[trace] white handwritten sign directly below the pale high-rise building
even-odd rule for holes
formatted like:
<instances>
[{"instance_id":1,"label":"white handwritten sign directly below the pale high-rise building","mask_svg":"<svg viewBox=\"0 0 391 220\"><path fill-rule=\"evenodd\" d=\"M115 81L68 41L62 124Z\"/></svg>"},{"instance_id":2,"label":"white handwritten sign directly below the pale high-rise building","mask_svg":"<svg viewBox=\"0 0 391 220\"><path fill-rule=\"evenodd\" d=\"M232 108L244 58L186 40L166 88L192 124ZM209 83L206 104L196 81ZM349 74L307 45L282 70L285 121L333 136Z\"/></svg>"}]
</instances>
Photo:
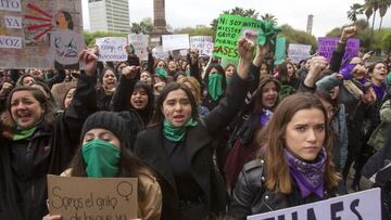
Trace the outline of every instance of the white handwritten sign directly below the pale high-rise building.
<instances>
[{"instance_id":1,"label":"white handwritten sign directly below the pale high-rise building","mask_svg":"<svg viewBox=\"0 0 391 220\"><path fill-rule=\"evenodd\" d=\"M99 61L127 61L126 38L106 37L97 38L96 44L99 49Z\"/></svg>"}]
</instances>

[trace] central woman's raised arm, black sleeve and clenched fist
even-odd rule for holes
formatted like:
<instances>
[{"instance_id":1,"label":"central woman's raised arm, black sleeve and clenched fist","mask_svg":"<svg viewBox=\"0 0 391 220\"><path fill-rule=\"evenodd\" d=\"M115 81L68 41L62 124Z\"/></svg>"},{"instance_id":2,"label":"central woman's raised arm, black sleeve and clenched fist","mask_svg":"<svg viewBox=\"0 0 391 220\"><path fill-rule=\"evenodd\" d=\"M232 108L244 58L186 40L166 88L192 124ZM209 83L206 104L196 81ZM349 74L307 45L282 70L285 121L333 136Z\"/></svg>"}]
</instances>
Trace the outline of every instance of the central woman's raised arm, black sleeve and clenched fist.
<instances>
[{"instance_id":1,"label":"central woman's raised arm, black sleeve and clenched fist","mask_svg":"<svg viewBox=\"0 0 391 220\"><path fill-rule=\"evenodd\" d=\"M238 42L239 65L237 75L234 75L231 83L228 86L226 96L205 118L205 126L212 135L217 134L236 116L244 103L248 88L253 80L249 77L254 43L244 38Z\"/></svg>"}]
</instances>

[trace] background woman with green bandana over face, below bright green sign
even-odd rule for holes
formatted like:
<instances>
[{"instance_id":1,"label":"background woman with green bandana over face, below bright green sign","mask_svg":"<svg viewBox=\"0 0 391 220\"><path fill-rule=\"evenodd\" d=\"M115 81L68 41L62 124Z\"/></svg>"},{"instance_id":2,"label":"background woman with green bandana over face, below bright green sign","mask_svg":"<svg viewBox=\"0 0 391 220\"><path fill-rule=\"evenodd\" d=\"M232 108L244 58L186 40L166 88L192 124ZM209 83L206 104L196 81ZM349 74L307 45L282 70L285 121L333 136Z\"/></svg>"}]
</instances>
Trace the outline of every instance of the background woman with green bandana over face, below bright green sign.
<instances>
[{"instance_id":1,"label":"background woman with green bandana over face, below bright green sign","mask_svg":"<svg viewBox=\"0 0 391 220\"><path fill-rule=\"evenodd\" d=\"M227 86L226 75L219 64L210 64L203 80L203 105L210 111L215 108L224 98Z\"/></svg>"}]
</instances>

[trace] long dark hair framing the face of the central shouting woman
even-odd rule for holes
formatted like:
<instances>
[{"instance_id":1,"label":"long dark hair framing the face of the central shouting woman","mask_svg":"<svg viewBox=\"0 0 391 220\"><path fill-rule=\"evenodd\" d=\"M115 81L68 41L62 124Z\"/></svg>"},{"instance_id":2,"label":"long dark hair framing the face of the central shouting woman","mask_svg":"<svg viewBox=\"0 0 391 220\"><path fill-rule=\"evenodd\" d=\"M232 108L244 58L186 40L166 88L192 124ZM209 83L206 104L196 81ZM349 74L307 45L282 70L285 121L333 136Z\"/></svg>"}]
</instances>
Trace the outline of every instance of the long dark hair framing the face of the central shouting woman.
<instances>
[{"instance_id":1,"label":"long dark hair framing the face of the central shouting woman","mask_svg":"<svg viewBox=\"0 0 391 220\"><path fill-rule=\"evenodd\" d=\"M157 98L156 109L155 109L155 113L152 118L153 126L159 125L164 120L165 116L162 113L163 103L166 100L169 92L172 92L174 90L178 90L178 89L184 90L185 93L187 94L187 96L189 98L190 105L191 105L191 117L194 120L198 119L199 114L197 111L197 103L195 103L195 99L194 99L193 94L191 93L190 89L186 85L181 85L178 82L169 82L163 88L163 91L161 92L161 94Z\"/></svg>"}]
</instances>

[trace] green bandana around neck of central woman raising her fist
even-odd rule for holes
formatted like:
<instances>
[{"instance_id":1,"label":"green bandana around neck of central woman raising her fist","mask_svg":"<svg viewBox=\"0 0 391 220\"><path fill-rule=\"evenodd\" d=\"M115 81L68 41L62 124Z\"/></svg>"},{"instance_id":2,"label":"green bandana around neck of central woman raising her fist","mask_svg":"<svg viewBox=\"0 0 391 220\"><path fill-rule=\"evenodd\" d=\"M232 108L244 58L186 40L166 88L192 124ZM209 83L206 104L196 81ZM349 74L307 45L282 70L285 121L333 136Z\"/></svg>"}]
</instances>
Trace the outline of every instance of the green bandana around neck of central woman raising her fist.
<instances>
[{"instance_id":1,"label":"green bandana around neck of central woman raising her fist","mask_svg":"<svg viewBox=\"0 0 391 220\"><path fill-rule=\"evenodd\" d=\"M163 121L163 134L166 139L173 142L180 142L184 141L186 135L186 128L187 127L195 127L198 122L190 118L185 126L182 127L176 127L172 122L169 122L167 119L164 119Z\"/></svg>"}]
</instances>

